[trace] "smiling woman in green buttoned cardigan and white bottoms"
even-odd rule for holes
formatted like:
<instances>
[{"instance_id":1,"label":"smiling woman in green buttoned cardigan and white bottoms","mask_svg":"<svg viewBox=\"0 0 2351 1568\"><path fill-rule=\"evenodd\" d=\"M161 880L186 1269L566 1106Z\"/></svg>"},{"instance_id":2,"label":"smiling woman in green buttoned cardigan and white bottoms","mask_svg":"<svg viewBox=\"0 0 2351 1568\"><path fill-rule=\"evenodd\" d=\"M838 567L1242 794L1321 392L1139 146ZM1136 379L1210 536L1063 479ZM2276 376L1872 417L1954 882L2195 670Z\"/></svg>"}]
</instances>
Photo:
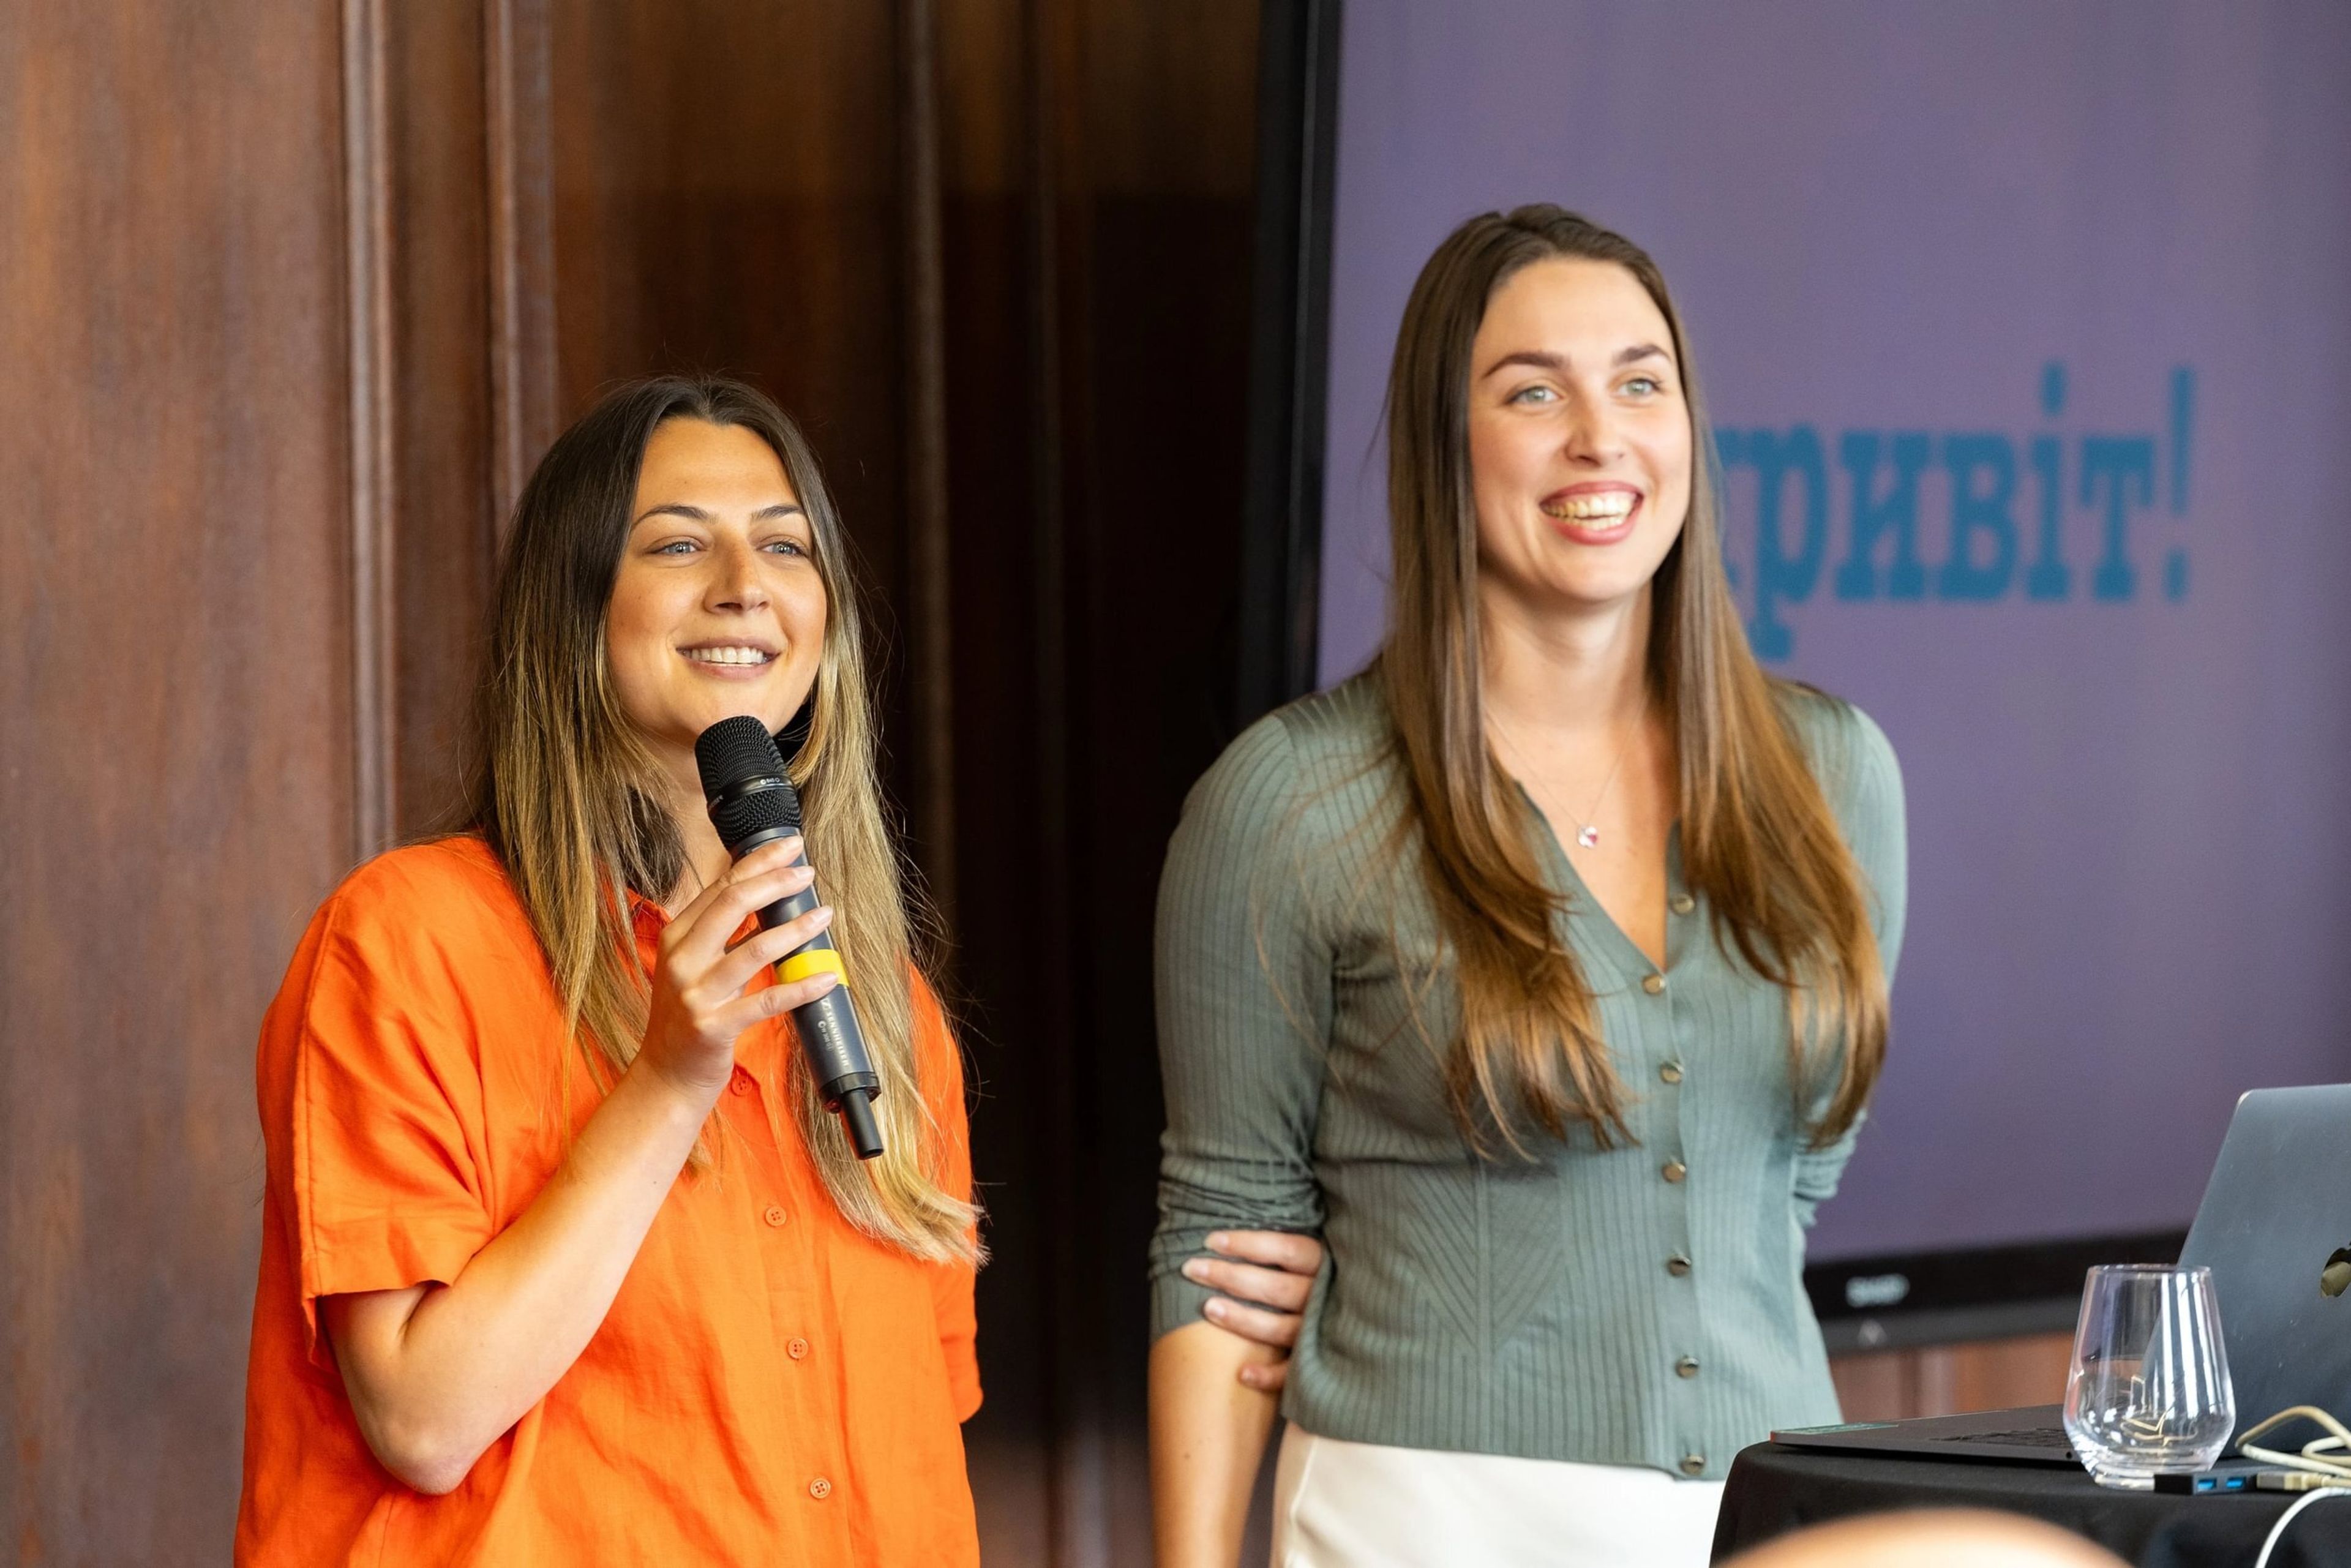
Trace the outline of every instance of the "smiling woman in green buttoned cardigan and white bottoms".
<instances>
[{"instance_id":1,"label":"smiling woman in green buttoned cardigan and white bottoms","mask_svg":"<svg viewBox=\"0 0 2351 1568\"><path fill-rule=\"evenodd\" d=\"M1286 1371L1286 1568L1695 1568L1733 1453L1836 1420L1803 1227L1886 1051L1902 778L1747 649L1629 240L1462 223L1387 447L1387 644L1234 741L1161 884L1159 1563L1232 1566Z\"/></svg>"}]
</instances>

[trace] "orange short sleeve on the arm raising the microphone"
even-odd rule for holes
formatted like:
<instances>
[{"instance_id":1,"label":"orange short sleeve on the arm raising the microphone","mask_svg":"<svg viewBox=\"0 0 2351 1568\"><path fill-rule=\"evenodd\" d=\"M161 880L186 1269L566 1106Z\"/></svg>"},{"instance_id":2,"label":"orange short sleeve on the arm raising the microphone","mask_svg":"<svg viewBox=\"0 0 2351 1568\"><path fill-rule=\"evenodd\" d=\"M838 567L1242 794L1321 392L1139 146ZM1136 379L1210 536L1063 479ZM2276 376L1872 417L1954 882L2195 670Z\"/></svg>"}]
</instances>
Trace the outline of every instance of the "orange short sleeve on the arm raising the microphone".
<instances>
[{"instance_id":1,"label":"orange short sleeve on the arm raising the microphone","mask_svg":"<svg viewBox=\"0 0 2351 1568\"><path fill-rule=\"evenodd\" d=\"M426 912L369 891L346 884L322 910L287 976L299 1001L270 1020L292 1056L289 1124L275 1131L292 1150L289 1225L317 1363L331 1361L320 1295L447 1284L496 1234L458 973Z\"/></svg>"}]
</instances>

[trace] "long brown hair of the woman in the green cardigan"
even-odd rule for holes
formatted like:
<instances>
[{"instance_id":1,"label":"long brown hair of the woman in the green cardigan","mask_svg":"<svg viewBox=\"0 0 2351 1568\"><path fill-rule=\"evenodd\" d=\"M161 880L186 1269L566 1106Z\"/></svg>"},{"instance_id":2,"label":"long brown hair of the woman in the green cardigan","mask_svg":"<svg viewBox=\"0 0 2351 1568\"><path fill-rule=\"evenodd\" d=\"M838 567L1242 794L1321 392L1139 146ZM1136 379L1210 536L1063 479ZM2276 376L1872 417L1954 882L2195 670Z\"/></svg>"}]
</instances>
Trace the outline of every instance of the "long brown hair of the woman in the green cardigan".
<instances>
[{"instance_id":1,"label":"long brown hair of the woman in the green cardigan","mask_svg":"<svg viewBox=\"0 0 2351 1568\"><path fill-rule=\"evenodd\" d=\"M1483 1110L1521 1150L1514 1112L1552 1135L1582 1124L1601 1147L1629 1138L1592 987L1554 931L1561 896L1542 882L1526 806L1486 738L1469 346L1495 289L1554 256L1622 266L1674 334L1700 461L1690 515L1653 578L1648 682L1674 736L1683 875L1707 896L1716 940L1787 990L1799 1121L1824 1145L1860 1117L1886 1058L1886 966L1862 872L1787 712L1822 698L1763 675L1747 649L1723 576L1707 414L1665 275L1632 240L1549 205L1488 212L1446 235L1404 308L1387 383L1394 574L1373 672L1458 966L1453 1114L1481 1143ZM1834 1091L1810 1117L1831 1058Z\"/></svg>"}]
</instances>

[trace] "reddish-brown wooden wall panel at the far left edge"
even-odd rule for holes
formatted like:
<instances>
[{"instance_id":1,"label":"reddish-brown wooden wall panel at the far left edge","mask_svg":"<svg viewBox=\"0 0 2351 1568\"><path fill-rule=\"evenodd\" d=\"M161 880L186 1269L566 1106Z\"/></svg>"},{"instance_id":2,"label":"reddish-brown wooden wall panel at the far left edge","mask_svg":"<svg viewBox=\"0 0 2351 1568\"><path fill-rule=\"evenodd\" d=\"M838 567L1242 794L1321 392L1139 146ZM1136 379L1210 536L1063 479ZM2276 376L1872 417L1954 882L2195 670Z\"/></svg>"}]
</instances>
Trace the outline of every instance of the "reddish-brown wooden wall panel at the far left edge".
<instances>
[{"instance_id":1,"label":"reddish-brown wooden wall panel at the far left edge","mask_svg":"<svg viewBox=\"0 0 2351 1568\"><path fill-rule=\"evenodd\" d=\"M334 7L0 9L0 1549L216 1563L252 1051L350 865Z\"/></svg>"}]
</instances>

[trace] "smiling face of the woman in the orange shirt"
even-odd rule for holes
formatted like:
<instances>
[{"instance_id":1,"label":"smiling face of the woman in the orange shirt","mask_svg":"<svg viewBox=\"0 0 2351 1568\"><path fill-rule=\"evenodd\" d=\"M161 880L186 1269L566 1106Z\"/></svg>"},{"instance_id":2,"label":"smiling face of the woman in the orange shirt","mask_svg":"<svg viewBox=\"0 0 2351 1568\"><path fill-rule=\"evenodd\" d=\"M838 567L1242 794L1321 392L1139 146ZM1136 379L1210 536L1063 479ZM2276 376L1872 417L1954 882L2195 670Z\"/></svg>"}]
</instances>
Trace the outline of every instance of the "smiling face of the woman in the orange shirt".
<instances>
[{"instance_id":1,"label":"smiling face of the woman in the orange shirt","mask_svg":"<svg viewBox=\"0 0 2351 1568\"><path fill-rule=\"evenodd\" d=\"M628 545L604 611L621 712L679 778L694 738L799 710L825 646L816 531L752 430L668 418L644 444Z\"/></svg>"}]
</instances>

